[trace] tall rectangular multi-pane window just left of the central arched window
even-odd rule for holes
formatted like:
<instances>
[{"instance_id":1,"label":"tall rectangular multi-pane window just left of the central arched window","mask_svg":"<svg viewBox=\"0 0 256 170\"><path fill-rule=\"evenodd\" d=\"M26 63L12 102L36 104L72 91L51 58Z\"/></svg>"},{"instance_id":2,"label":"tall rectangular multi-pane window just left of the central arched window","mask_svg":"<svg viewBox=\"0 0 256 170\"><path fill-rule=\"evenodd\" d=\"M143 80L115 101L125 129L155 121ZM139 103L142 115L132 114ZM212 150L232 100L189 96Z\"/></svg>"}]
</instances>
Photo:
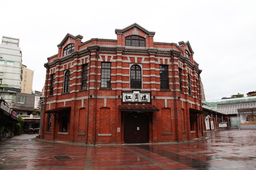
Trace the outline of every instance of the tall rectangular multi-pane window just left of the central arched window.
<instances>
[{"instance_id":1,"label":"tall rectangular multi-pane window just left of the central arched window","mask_svg":"<svg viewBox=\"0 0 256 170\"><path fill-rule=\"evenodd\" d=\"M110 88L111 63L101 63L101 88Z\"/></svg>"}]
</instances>

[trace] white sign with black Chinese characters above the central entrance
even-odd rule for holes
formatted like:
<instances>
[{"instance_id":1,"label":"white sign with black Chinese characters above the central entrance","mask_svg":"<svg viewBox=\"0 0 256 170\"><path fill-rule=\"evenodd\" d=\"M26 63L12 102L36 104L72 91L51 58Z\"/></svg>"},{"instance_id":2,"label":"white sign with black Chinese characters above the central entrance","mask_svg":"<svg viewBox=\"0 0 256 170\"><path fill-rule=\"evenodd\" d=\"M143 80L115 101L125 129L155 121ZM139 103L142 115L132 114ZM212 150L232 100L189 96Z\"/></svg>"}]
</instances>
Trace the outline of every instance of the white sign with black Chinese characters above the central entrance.
<instances>
[{"instance_id":1,"label":"white sign with black Chinese characters above the central entrance","mask_svg":"<svg viewBox=\"0 0 256 170\"><path fill-rule=\"evenodd\" d=\"M150 93L133 91L133 92L122 92L123 103L151 103Z\"/></svg>"}]
</instances>

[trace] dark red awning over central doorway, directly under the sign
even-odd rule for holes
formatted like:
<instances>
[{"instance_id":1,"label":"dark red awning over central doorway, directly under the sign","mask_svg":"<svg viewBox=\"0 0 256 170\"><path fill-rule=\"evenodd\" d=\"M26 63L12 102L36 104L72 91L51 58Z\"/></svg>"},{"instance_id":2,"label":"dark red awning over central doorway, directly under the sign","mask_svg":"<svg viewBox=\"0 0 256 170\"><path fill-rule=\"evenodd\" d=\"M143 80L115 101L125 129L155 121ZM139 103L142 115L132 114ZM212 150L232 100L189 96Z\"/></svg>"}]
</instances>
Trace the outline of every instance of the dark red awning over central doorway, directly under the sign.
<instances>
[{"instance_id":1,"label":"dark red awning over central doorway, directly under the sign","mask_svg":"<svg viewBox=\"0 0 256 170\"><path fill-rule=\"evenodd\" d=\"M148 111L148 112L158 112L159 109L152 105L121 105L119 106L121 111Z\"/></svg>"}]
</instances>

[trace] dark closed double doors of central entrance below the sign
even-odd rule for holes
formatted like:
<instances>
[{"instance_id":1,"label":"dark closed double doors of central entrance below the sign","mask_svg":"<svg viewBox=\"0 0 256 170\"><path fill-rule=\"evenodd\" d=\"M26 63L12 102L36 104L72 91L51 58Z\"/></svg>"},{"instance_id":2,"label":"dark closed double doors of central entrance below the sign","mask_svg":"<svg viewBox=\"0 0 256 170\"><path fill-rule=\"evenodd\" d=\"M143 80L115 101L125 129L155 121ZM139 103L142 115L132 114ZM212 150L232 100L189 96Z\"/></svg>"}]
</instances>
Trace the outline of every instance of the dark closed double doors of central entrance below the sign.
<instances>
[{"instance_id":1,"label":"dark closed double doors of central entrance below the sign","mask_svg":"<svg viewBox=\"0 0 256 170\"><path fill-rule=\"evenodd\" d=\"M124 115L124 143L148 143L148 116L143 113Z\"/></svg>"}]
</instances>

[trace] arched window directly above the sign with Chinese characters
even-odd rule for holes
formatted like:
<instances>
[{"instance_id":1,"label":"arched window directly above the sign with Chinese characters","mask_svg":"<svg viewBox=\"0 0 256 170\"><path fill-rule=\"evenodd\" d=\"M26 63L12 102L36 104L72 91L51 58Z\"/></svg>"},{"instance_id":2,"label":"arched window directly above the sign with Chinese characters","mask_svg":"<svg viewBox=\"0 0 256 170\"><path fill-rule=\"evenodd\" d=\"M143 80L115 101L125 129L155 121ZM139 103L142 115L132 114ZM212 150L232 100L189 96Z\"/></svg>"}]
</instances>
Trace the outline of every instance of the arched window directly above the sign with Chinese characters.
<instances>
[{"instance_id":1,"label":"arched window directly above the sign with Chinese characters","mask_svg":"<svg viewBox=\"0 0 256 170\"><path fill-rule=\"evenodd\" d=\"M132 65L130 70L130 87L141 88L141 68L139 65Z\"/></svg>"}]
</instances>

